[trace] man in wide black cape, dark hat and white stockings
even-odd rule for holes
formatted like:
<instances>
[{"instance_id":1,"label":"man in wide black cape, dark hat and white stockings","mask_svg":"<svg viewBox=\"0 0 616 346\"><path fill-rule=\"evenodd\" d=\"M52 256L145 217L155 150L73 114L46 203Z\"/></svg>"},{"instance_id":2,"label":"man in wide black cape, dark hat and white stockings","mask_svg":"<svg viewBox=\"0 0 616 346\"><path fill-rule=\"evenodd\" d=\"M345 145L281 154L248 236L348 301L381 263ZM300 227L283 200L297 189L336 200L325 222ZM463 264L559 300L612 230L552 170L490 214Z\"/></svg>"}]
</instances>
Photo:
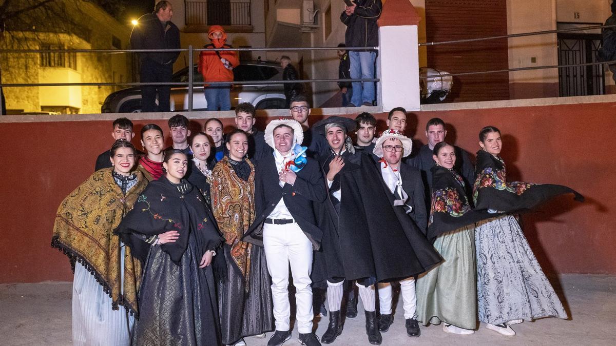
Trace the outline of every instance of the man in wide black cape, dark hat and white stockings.
<instances>
[{"instance_id":1,"label":"man in wide black cape, dark hat and white stockings","mask_svg":"<svg viewBox=\"0 0 616 346\"><path fill-rule=\"evenodd\" d=\"M423 273L440 257L433 249L418 253L411 246L401 222L408 217L392 207L375 164L368 155L355 153L347 136L355 130L355 121L331 116L315 129L330 145L330 155L319 159L328 198L317 205L323 239L313 270L313 281L326 280L328 285L330 323L321 341L331 344L341 334L342 283L357 280L368 341L378 345L383 338L376 321L376 281Z\"/></svg>"}]
</instances>

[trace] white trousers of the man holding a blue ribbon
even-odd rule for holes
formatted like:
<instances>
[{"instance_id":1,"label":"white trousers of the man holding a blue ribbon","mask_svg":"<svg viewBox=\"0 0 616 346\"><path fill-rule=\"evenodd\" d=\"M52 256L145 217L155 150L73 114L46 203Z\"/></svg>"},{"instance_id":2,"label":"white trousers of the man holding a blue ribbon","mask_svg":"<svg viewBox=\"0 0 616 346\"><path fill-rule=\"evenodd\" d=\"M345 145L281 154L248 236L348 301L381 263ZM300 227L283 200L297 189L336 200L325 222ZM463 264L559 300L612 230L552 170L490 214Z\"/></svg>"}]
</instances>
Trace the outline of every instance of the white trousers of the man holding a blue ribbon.
<instances>
[{"instance_id":1,"label":"white trousers of the man holding a blue ribbon","mask_svg":"<svg viewBox=\"0 0 616 346\"><path fill-rule=\"evenodd\" d=\"M272 276L272 300L277 331L288 331L291 317L289 304L289 265L295 286L298 332L312 332L312 243L297 223L263 225L263 245L267 270Z\"/></svg>"}]
</instances>

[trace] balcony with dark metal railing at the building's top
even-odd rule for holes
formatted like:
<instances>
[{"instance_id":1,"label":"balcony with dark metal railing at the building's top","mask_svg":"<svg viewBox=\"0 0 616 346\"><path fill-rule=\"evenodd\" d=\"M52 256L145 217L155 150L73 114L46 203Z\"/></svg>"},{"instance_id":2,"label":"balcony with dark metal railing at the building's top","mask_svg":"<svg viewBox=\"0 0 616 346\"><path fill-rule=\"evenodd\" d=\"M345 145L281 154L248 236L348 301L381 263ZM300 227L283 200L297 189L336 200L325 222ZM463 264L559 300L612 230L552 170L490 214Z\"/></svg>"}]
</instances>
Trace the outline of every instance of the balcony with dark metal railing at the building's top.
<instances>
[{"instance_id":1,"label":"balcony with dark metal railing at the building's top","mask_svg":"<svg viewBox=\"0 0 616 346\"><path fill-rule=\"evenodd\" d=\"M186 25L251 25L250 0L185 0Z\"/></svg>"}]
</instances>

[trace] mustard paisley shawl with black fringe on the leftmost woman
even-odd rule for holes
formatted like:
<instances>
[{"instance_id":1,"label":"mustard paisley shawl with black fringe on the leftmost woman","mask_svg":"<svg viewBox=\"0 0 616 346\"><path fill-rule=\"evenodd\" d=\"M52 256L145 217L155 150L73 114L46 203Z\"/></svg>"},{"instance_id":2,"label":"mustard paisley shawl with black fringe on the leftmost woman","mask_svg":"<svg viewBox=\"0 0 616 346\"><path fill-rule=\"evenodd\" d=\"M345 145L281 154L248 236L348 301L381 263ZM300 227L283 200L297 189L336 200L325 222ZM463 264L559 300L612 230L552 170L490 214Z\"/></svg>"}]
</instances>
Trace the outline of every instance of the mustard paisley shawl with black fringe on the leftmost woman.
<instances>
[{"instance_id":1,"label":"mustard paisley shawl with black fringe on the leftmost woman","mask_svg":"<svg viewBox=\"0 0 616 346\"><path fill-rule=\"evenodd\" d=\"M147 180L137 171L136 185L124 196L112 170L94 172L62 201L55 215L51 246L68 256L73 272L75 262L79 262L95 276L111 297L113 310L123 305L133 314L137 313L141 264L126 247L124 276L120 277L120 238L112 231L131 209Z\"/></svg>"}]
</instances>

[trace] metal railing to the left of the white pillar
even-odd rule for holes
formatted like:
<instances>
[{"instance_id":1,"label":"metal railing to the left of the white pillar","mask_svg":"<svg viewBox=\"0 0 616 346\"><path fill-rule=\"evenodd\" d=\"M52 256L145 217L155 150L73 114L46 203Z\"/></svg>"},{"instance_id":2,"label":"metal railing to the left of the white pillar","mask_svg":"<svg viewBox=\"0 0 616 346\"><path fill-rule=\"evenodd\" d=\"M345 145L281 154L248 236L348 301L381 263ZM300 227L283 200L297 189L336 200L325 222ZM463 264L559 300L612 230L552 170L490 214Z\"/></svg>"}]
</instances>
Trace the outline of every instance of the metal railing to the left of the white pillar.
<instances>
[{"instance_id":1,"label":"metal railing to the left of the white pillar","mask_svg":"<svg viewBox=\"0 0 616 346\"><path fill-rule=\"evenodd\" d=\"M193 46L188 46L188 49L0 49L2 53L103 53L103 54L121 54L121 53L148 53L148 52L188 52L188 66L194 66L195 52L207 51L291 51L299 50L339 50L339 47L296 47L296 48L221 48L221 49L195 49ZM345 50L378 50L379 47L345 47ZM193 88L194 83L194 68L188 68L187 82L75 82L75 83L2 83L0 87L46 87L46 86L187 86L188 87L188 111L193 110ZM233 81L235 85L246 84L295 84L295 83L311 83L311 82L379 82L379 78L347 78L347 79L294 79L292 81ZM200 82L201 84L201 82ZM212 85L228 85L229 82L219 81L203 81L203 84Z\"/></svg>"}]
</instances>

